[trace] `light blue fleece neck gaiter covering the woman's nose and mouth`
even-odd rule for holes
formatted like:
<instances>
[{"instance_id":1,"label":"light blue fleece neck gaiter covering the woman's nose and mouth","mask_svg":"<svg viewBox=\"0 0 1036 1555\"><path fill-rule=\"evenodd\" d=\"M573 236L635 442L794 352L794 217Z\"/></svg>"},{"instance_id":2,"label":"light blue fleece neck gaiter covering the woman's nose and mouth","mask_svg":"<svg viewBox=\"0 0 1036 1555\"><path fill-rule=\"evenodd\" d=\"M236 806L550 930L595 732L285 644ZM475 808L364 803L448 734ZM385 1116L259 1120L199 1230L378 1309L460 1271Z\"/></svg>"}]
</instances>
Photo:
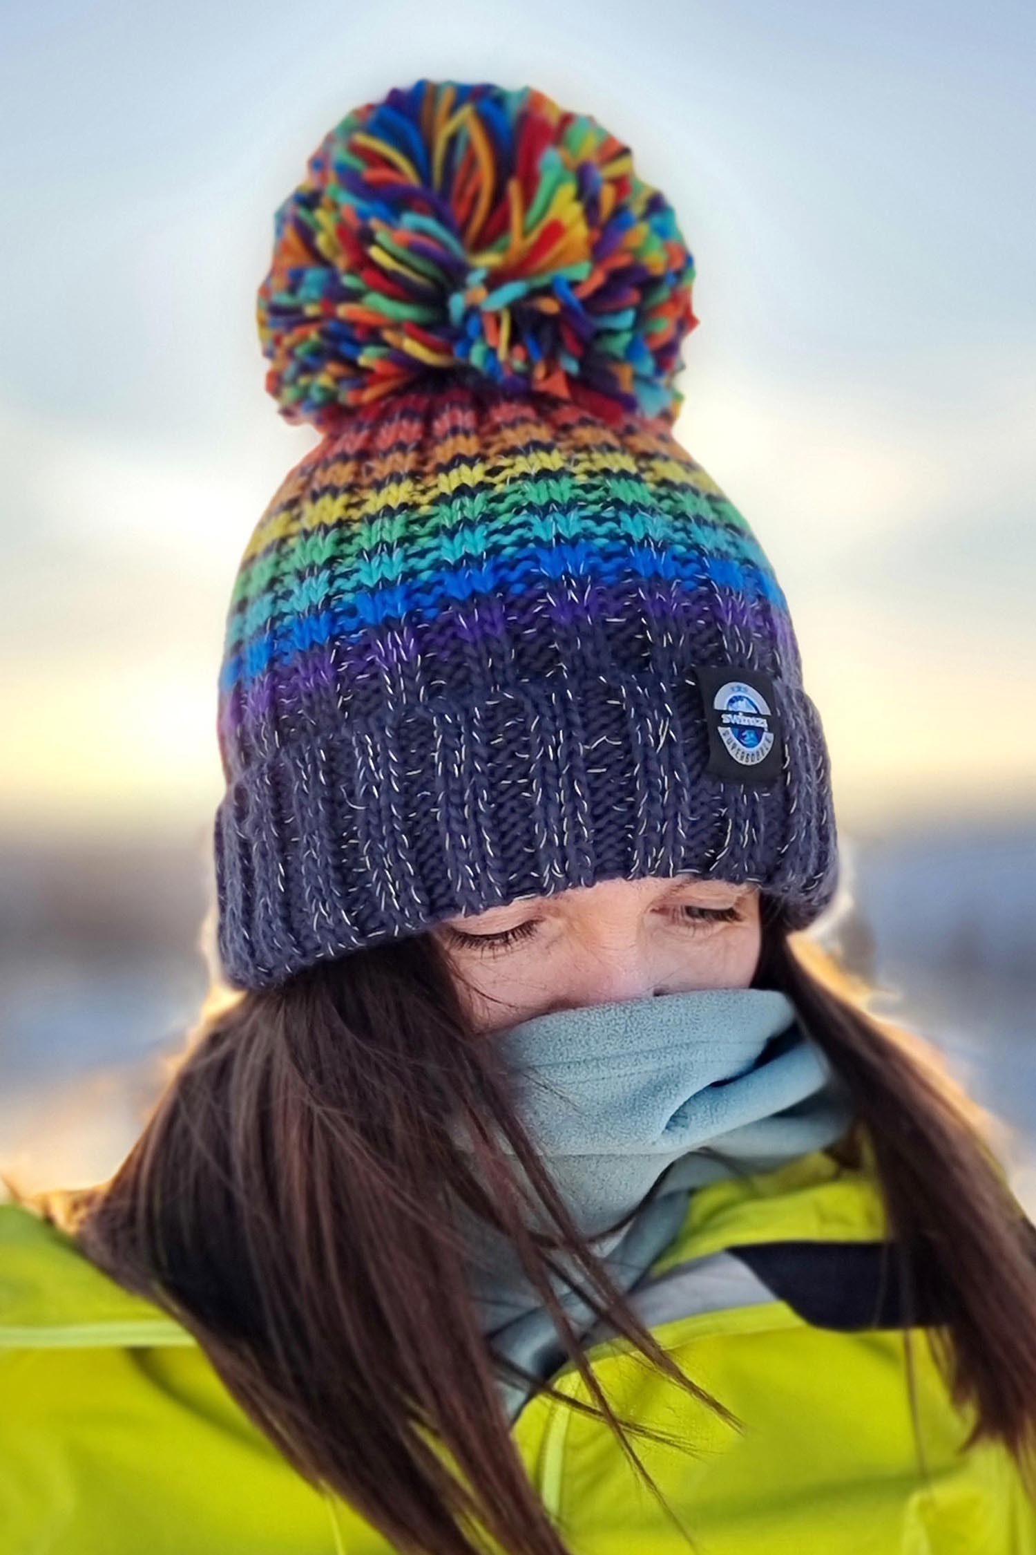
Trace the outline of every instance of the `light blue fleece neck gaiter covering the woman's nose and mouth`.
<instances>
[{"instance_id":1,"label":"light blue fleece neck gaiter covering the woman's nose and mouth","mask_svg":"<svg viewBox=\"0 0 1036 1555\"><path fill-rule=\"evenodd\" d=\"M676 1236L694 1188L770 1171L833 1144L853 1121L842 1082L772 989L693 989L537 1015L503 1045L513 1098L579 1230L623 1291ZM502 1141L506 1148L506 1141ZM718 1154L710 1154L710 1152ZM618 1232L665 1174L659 1194ZM509 1241L463 1211L469 1278L497 1354L536 1376L565 1359ZM530 1225L547 1232L545 1219ZM575 1263L555 1253L578 1278ZM553 1278L576 1331L590 1308ZM514 1417L528 1396L503 1384Z\"/></svg>"}]
</instances>

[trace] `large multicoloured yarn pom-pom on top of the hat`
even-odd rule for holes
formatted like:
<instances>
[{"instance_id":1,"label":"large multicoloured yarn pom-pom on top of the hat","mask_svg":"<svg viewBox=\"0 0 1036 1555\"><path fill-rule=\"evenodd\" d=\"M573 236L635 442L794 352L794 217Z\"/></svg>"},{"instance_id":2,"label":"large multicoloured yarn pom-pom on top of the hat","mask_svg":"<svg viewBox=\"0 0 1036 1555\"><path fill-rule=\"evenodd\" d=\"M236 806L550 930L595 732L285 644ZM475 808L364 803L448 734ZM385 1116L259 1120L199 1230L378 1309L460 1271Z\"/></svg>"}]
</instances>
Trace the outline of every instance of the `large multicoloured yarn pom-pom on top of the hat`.
<instances>
[{"instance_id":1,"label":"large multicoloured yarn pom-pom on top of the hat","mask_svg":"<svg viewBox=\"0 0 1036 1555\"><path fill-rule=\"evenodd\" d=\"M590 117L418 81L342 120L276 210L266 387L317 428L427 375L673 423L693 280L673 207Z\"/></svg>"}]
</instances>

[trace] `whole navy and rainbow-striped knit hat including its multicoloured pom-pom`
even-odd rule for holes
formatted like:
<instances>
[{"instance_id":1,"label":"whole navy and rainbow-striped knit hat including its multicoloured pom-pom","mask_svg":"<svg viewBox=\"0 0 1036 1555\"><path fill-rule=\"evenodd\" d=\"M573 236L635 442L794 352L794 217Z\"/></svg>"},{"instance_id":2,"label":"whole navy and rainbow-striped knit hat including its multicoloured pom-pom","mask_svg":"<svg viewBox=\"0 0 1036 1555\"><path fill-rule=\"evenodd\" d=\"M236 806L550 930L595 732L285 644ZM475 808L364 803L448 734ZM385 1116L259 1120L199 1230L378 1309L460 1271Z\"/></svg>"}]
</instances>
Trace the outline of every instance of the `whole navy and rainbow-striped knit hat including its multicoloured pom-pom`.
<instances>
[{"instance_id":1,"label":"whole navy and rainbow-striped knit hat including its multicoloured pom-pom","mask_svg":"<svg viewBox=\"0 0 1036 1555\"><path fill-rule=\"evenodd\" d=\"M349 114L275 216L267 389L322 434L241 558L227 981L607 879L834 896L819 714L760 543L676 442L694 263L531 87Z\"/></svg>"}]
</instances>

